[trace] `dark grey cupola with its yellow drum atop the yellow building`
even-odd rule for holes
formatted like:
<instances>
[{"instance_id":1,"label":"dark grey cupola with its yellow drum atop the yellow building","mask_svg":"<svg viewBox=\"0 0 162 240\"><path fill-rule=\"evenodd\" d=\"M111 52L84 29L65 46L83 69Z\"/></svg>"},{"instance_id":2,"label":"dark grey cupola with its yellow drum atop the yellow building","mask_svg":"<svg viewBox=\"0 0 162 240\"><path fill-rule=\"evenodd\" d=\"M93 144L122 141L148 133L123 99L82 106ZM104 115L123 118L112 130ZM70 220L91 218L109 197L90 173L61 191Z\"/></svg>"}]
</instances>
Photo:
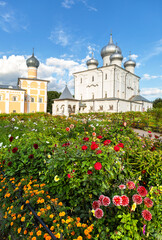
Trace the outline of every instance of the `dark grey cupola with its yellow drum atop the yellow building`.
<instances>
[{"instance_id":1,"label":"dark grey cupola with its yellow drum atop the yellow building","mask_svg":"<svg viewBox=\"0 0 162 240\"><path fill-rule=\"evenodd\" d=\"M28 78L37 78L39 61L34 57L34 50L32 56L26 60L26 65L28 67Z\"/></svg>"}]
</instances>

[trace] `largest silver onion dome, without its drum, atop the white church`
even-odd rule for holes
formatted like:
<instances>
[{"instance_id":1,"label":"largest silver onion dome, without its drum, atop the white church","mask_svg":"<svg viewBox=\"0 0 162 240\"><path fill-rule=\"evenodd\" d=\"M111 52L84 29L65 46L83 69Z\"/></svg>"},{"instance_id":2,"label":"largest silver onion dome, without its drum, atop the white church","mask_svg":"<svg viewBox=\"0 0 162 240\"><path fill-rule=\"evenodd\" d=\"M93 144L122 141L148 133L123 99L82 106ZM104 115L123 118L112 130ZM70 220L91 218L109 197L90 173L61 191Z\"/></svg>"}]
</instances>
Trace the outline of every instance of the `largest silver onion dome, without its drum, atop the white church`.
<instances>
[{"instance_id":1,"label":"largest silver onion dome, without its drum, atop the white church","mask_svg":"<svg viewBox=\"0 0 162 240\"><path fill-rule=\"evenodd\" d=\"M120 47L117 47L117 50L119 53L121 53ZM102 48L101 57L104 58L105 56L110 56L115 52L116 52L116 45L113 43L112 34L110 34L110 41L108 45Z\"/></svg>"}]
</instances>

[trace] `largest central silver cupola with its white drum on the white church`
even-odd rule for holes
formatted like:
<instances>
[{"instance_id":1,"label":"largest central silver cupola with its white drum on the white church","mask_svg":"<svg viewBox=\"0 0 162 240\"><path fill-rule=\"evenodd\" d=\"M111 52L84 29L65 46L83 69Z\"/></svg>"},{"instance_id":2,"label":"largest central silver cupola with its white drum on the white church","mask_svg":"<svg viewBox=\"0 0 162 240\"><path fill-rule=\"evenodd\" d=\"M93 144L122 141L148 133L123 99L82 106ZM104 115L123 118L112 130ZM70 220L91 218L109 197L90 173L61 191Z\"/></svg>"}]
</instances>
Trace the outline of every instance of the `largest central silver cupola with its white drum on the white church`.
<instances>
[{"instance_id":1,"label":"largest central silver cupola with its white drum on the white church","mask_svg":"<svg viewBox=\"0 0 162 240\"><path fill-rule=\"evenodd\" d=\"M117 50L121 53L121 49L117 46ZM103 59L103 66L110 65L110 56L116 52L116 46L113 43L112 33L110 34L110 41L109 43L102 48L101 50L101 57Z\"/></svg>"}]
</instances>

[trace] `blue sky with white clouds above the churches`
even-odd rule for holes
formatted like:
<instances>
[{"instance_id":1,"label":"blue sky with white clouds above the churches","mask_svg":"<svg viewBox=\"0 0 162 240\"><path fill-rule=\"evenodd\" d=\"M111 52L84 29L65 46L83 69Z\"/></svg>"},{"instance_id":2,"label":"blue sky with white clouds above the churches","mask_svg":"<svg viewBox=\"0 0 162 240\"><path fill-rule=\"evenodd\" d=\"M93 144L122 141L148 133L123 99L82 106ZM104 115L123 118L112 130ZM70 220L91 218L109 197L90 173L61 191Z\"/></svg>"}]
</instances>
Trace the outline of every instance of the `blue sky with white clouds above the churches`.
<instances>
[{"instance_id":1,"label":"blue sky with white clouds above the churches","mask_svg":"<svg viewBox=\"0 0 162 240\"><path fill-rule=\"evenodd\" d=\"M162 97L161 0L0 0L0 84L17 84L27 77L26 59L35 49L38 78L50 80L48 90L73 92L72 73L86 69L92 49L113 40L129 51L141 77L141 94Z\"/></svg>"}]
</instances>

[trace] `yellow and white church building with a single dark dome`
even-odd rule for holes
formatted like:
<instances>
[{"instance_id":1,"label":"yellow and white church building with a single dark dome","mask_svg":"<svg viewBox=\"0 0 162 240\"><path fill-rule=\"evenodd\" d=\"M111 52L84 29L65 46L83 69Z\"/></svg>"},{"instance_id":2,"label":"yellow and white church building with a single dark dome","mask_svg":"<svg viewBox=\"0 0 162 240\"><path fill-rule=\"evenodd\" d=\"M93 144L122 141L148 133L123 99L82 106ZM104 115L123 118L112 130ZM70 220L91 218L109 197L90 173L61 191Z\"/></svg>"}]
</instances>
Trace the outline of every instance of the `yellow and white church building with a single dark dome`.
<instances>
[{"instance_id":1,"label":"yellow and white church building with a single dark dome","mask_svg":"<svg viewBox=\"0 0 162 240\"><path fill-rule=\"evenodd\" d=\"M28 78L18 78L16 86L0 85L0 113L47 112L48 80L37 79L39 61L26 61Z\"/></svg>"}]
</instances>

